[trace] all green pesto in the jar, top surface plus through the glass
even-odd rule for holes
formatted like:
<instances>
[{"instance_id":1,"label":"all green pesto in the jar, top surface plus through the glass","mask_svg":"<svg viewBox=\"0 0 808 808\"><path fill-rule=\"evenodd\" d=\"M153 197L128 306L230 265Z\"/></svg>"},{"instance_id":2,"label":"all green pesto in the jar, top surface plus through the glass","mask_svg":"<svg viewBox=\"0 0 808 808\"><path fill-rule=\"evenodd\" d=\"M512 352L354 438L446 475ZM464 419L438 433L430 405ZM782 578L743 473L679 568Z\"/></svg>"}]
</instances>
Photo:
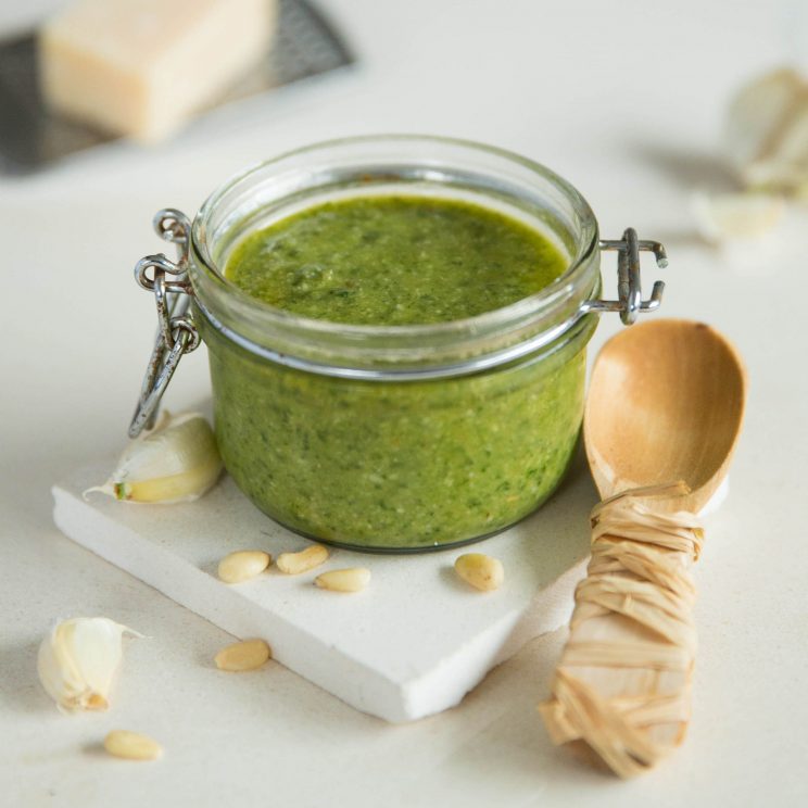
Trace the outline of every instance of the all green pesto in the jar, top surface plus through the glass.
<instances>
[{"instance_id":1,"label":"all green pesto in the jar, top surface plus through the glass","mask_svg":"<svg viewBox=\"0 0 808 808\"><path fill-rule=\"evenodd\" d=\"M396 325L496 308L563 270L555 248L501 214L387 197L320 205L256 232L227 275L310 317ZM480 538L544 502L575 450L590 319L508 366L404 382L283 367L197 321L228 471L304 534L379 551Z\"/></svg>"}]
</instances>

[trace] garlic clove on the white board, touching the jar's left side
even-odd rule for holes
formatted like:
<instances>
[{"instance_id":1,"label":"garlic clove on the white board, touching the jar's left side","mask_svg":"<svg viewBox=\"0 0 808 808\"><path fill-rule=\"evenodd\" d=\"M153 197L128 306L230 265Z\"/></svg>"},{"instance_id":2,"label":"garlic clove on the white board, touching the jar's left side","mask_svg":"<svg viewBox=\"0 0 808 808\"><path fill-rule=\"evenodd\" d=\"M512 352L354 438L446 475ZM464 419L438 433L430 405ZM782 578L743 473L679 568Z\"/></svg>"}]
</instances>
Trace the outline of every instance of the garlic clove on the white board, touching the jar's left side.
<instances>
[{"instance_id":1,"label":"garlic clove on the white board, touching the jar's left side","mask_svg":"<svg viewBox=\"0 0 808 808\"><path fill-rule=\"evenodd\" d=\"M191 502L222 474L216 439L198 413L166 416L129 443L111 478L90 491L138 503Z\"/></svg>"}]
</instances>

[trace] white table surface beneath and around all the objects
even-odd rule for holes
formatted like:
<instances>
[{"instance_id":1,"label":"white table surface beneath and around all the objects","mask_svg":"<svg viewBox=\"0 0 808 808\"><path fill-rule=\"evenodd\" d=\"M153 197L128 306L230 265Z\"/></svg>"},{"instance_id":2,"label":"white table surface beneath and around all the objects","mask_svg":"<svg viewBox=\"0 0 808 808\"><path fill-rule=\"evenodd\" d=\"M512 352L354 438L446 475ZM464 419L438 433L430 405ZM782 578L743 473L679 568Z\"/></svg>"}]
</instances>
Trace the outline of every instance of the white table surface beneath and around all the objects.
<instances>
[{"instance_id":1,"label":"white table surface beneath and around all the objects","mask_svg":"<svg viewBox=\"0 0 808 808\"><path fill-rule=\"evenodd\" d=\"M53 4L4 3L0 25ZM324 4L352 34L353 71L249 102L153 151L113 146L0 179L0 803L808 804L808 267L798 240L775 258L722 258L693 238L687 206L694 187L723 181L729 93L791 55L785 12L729 0ZM716 325L748 363L731 495L696 570L690 737L639 781L582 768L547 741L534 705L563 633L527 646L458 708L392 727L275 664L224 677L210 664L224 632L51 522L50 484L124 435L153 325L130 272L159 249L152 213L192 213L230 173L291 147L397 130L514 149L576 184L606 237L632 225L666 241L664 314ZM608 262L604 277L609 287ZM617 328L604 319L594 346ZM184 362L171 403L206 387L200 353ZM36 646L54 618L80 614L151 639L128 646L110 712L64 717L36 679ZM160 738L164 759L109 759L99 742L115 727Z\"/></svg>"}]
</instances>

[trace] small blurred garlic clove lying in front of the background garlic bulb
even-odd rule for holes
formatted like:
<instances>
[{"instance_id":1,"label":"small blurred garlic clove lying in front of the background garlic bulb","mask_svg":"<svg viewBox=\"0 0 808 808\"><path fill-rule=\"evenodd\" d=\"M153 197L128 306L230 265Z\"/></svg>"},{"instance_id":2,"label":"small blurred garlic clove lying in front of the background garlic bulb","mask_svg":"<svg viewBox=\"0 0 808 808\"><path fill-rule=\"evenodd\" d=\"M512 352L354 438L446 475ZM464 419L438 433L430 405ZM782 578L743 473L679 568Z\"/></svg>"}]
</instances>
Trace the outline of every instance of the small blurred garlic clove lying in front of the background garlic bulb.
<instances>
[{"instance_id":1,"label":"small blurred garlic clove lying in front of the background garlic bulb","mask_svg":"<svg viewBox=\"0 0 808 808\"><path fill-rule=\"evenodd\" d=\"M757 239L781 222L785 204L766 193L696 193L693 214L699 233L714 243Z\"/></svg>"}]
</instances>

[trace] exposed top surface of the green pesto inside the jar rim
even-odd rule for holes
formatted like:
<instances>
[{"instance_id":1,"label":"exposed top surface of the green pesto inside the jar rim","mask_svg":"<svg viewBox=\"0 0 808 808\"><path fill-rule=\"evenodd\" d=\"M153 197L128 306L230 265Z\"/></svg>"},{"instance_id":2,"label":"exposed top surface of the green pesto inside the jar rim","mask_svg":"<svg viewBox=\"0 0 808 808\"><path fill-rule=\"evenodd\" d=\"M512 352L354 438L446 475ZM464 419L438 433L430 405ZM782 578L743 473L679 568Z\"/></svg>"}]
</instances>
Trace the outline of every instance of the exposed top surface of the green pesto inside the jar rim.
<instances>
[{"instance_id":1,"label":"exposed top surface of the green pesto inside the jar rim","mask_svg":"<svg viewBox=\"0 0 808 808\"><path fill-rule=\"evenodd\" d=\"M501 308L565 268L539 232L480 205L355 197L250 235L225 274L248 294L306 317L396 326Z\"/></svg>"}]
</instances>

